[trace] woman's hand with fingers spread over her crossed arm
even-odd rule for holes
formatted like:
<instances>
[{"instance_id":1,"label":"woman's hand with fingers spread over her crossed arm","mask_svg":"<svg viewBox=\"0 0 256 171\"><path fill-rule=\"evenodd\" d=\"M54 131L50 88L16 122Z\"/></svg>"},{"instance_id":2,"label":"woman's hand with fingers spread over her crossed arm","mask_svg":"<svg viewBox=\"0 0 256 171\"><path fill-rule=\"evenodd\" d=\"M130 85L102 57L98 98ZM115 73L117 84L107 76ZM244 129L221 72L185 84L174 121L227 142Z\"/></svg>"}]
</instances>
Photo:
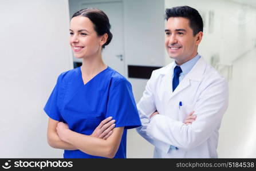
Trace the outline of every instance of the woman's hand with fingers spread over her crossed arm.
<instances>
[{"instance_id":1,"label":"woman's hand with fingers spread over her crossed arm","mask_svg":"<svg viewBox=\"0 0 256 171\"><path fill-rule=\"evenodd\" d=\"M112 120L112 116L110 116L107 119L101 121L99 126L94 129L91 136L106 140L109 136L112 135L115 125L115 120Z\"/></svg>"}]
</instances>

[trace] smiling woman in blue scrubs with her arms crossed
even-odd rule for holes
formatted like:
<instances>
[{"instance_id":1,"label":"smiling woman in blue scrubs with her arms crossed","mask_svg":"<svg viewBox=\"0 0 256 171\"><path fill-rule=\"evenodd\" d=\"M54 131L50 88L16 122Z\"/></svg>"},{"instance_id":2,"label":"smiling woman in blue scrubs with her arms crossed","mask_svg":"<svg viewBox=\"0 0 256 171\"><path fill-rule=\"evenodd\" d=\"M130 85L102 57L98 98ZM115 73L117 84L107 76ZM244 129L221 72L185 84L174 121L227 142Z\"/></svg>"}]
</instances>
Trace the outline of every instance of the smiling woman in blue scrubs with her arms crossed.
<instances>
[{"instance_id":1,"label":"smiling woman in blue scrubs with her arms crossed","mask_svg":"<svg viewBox=\"0 0 256 171\"><path fill-rule=\"evenodd\" d=\"M126 158L127 129L141 125L131 84L102 59L110 27L97 9L70 21L70 46L82 66L58 76L44 108L48 143L64 149L64 158Z\"/></svg>"}]
</instances>

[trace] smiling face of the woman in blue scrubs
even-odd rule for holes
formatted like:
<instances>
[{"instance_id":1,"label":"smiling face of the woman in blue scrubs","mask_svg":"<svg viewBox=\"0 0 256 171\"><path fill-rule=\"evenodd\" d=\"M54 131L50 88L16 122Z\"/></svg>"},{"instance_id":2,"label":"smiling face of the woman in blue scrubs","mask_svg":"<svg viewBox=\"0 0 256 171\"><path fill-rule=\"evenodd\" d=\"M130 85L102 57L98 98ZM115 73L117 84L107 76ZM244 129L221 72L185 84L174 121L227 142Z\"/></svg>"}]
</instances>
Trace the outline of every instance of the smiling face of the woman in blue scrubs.
<instances>
[{"instance_id":1,"label":"smiling face of the woman in blue scrubs","mask_svg":"<svg viewBox=\"0 0 256 171\"><path fill-rule=\"evenodd\" d=\"M101 53L102 36L98 36L87 17L77 16L70 21L70 46L76 58L89 58Z\"/></svg>"}]
</instances>

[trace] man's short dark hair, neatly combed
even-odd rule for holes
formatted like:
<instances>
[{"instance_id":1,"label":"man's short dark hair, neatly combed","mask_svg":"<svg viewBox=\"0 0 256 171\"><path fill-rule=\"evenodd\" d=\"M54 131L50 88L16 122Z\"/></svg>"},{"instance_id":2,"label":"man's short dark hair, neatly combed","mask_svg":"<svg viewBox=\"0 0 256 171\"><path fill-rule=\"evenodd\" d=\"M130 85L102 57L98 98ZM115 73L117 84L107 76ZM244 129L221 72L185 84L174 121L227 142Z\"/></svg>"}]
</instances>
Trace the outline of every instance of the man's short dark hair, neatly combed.
<instances>
[{"instance_id":1,"label":"man's short dark hair, neatly combed","mask_svg":"<svg viewBox=\"0 0 256 171\"><path fill-rule=\"evenodd\" d=\"M203 19L196 9L189 6L176 6L171 9L166 9L166 21L170 17L183 17L190 21L190 27L193 30L193 35L203 32Z\"/></svg>"}]
</instances>

